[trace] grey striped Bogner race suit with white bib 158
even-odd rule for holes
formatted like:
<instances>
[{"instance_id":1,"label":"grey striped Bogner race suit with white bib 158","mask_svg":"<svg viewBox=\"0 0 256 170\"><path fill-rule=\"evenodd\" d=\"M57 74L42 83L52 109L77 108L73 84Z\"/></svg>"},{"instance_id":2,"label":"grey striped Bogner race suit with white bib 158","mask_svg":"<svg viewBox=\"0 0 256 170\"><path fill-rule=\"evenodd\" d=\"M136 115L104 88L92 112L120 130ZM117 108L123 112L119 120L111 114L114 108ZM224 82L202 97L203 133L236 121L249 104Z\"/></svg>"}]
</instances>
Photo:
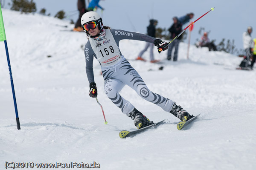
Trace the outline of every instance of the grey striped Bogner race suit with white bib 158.
<instances>
[{"instance_id":1,"label":"grey striped Bogner race suit with white bib 158","mask_svg":"<svg viewBox=\"0 0 256 170\"><path fill-rule=\"evenodd\" d=\"M106 35L101 40L94 40L89 37L84 48L89 83L94 82L94 56L101 64L102 75L105 80L105 94L125 115L134 109L134 106L119 94L125 85L134 89L143 99L157 104L169 112L172 109L173 101L148 89L138 72L120 52L119 41L122 39L143 40L149 43L153 43L155 40L148 35L114 29L106 29Z\"/></svg>"}]
</instances>

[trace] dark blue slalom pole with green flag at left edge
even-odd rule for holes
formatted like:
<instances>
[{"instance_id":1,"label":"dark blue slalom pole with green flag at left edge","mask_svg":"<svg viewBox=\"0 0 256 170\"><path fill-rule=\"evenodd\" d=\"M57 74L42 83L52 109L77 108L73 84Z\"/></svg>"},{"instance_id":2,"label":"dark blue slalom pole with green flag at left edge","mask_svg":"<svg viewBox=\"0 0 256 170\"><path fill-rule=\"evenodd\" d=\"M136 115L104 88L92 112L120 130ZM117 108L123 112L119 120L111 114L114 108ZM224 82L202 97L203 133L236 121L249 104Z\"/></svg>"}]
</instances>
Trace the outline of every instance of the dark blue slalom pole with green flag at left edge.
<instances>
[{"instance_id":1,"label":"dark blue slalom pole with green flag at left edge","mask_svg":"<svg viewBox=\"0 0 256 170\"><path fill-rule=\"evenodd\" d=\"M19 119L19 115L18 115L14 84L13 84L13 80L12 80L12 69L11 69L8 46L7 46L6 35L5 35L5 30L4 30L4 25L3 25L3 15L2 15L2 9L1 9L1 3L0 3L0 41L4 41L4 45L5 45L5 48L6 48L6 57L7 57L8 67L9 67L11 85L12 85L12 96L13 96L15 113L16 113L17 128L18 128L18 130L20 130L20 119Z\"/></svg>"}]
</instances>

